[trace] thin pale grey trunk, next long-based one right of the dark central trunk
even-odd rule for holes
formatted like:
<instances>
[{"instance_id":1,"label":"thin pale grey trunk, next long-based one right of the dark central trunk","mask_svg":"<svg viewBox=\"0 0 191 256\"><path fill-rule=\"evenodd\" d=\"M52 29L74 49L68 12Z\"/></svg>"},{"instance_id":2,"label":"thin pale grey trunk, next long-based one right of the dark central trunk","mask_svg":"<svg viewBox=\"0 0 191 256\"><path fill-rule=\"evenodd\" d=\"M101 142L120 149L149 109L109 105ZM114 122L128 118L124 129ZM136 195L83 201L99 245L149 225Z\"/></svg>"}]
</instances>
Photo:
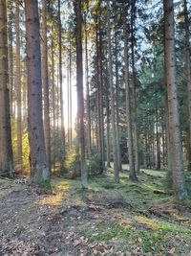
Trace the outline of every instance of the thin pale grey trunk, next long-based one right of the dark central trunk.
<instances>
[{"instance_id":1,"label":"thin pale grey trunk, next long-based one right of the dark central trunk","mask_svg":"<svg viewBox=\"0 0 191 256\"><path fill-rule=\"evenodd\" d=\"M117 129L116 129L116 118L115 118L115 97L114 97L114 84L113 84L110 15L111 15L110 14L110 1L107 0L109 86L110 86L110 97L111 97L111 121L112 121L112 132L113 132L112 134L113 134L114 174L115 174L115 182L119 183L119 172L118 172L118 166L117 166Z\"/></svg>"}]
</instances>

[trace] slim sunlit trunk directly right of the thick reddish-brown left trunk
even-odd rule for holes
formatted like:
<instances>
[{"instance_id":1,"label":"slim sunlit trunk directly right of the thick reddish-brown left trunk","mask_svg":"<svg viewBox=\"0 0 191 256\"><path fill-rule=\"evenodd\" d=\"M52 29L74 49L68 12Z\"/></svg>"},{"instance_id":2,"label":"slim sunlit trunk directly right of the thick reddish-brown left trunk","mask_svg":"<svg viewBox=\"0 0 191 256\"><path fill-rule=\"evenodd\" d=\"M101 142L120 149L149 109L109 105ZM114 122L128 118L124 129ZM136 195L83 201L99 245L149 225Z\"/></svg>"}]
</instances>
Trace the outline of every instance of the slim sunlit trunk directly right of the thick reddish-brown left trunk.
<instances>
[{"instance_id":1,"label":"slim sunlit trunk directly right of the thick reddish-brown left trunk","mask_svg":"<svg viewBox=\"0 0 191 256\"><path fill-rule=\"evenodd\" d=\"M42 87L44 102L44 136L49 170L51 171L51 128L47 53L47 1L42 0Z\"/></svg>"}]
</instances>

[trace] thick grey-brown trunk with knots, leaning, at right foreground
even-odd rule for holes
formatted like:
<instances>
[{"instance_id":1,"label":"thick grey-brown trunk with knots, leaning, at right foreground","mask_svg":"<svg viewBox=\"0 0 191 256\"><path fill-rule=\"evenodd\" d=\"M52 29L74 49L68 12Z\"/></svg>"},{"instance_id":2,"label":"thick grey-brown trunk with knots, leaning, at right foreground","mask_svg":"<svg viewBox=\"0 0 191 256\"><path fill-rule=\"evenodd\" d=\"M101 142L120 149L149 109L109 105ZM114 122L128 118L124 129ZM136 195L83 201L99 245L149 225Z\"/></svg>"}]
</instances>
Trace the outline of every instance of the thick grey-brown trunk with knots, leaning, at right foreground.
<instances>
[{"instance_id":1,"label":"thick grey-brown trunk with knots, leaning, at right foreground","mask_svg":"<svg viewBox=\"0 0 191 256\"><path fill-rule=\"evenodd\" d=\"M164 35L165 35L165 76L168 96L169 143L170 159L173 175L173 188L179 198L185 198L187 191L183 175L180 141L180 120L178 106L178 91L175 66L175 28L173 0L163 1Z\"/></svg>"}]
</instances>

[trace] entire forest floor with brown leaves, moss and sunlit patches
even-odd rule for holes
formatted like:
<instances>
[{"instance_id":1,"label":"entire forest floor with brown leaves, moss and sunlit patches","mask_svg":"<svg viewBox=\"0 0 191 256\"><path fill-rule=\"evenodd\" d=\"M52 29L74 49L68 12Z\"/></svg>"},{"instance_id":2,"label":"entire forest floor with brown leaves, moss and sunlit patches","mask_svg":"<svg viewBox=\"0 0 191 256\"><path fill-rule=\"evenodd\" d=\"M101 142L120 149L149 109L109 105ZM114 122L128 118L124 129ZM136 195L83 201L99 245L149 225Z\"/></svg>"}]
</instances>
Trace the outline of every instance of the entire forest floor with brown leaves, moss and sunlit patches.
<instances>
[{"instance_id":1,"label":"entire forest floor with brown leaves, moss and sunlit patches","mask_svg":"<svg viewBox=\"0 0 191 256\"><path fill-rule=\"evenodd\" d=\"M123 172L117 185L107 172L84 192L59 175L52 190L0 179L0 255L191 255L191 197L177 200L164 180Z\"/></svg>"}]
</instances>

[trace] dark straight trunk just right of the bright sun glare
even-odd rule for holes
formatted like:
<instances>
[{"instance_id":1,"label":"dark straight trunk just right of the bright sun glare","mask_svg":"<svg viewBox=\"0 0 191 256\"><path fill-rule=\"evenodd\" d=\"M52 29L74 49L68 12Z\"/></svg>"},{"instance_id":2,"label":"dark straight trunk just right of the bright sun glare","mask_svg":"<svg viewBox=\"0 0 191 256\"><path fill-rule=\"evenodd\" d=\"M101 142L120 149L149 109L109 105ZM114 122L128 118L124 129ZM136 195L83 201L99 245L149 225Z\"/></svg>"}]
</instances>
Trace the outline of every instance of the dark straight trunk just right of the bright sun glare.
<instances>
[{"instance_id":1,"label":"dark straight trunk just right of the bright sun glare","mask_svg":"<svg viewBox=\"0 0 191 256\"><path fill-rule=\"evenodd\" d=\"M76 82L77 82L77 124L80 153L81 184L88 188L88 175L85 163L84 134L84 95L83 95L83 59L82 59L82 13L81 0L76 0Z\"/></svg>"}]
</instances>

